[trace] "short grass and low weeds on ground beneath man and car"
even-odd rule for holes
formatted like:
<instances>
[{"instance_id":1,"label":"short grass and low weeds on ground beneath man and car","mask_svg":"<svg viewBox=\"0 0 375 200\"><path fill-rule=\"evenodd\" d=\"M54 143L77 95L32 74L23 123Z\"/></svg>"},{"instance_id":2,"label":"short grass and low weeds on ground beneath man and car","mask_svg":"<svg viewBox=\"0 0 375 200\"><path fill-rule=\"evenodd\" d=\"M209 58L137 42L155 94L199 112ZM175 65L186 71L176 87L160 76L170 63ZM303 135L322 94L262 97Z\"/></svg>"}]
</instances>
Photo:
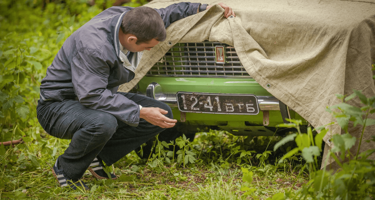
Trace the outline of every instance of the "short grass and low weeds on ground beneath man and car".
<instances>
[{"instance_id":1,"label":"short grass and low weeds on ground beneath man and car","mask_svg":"<svg viewBox=\"0 0 375 200\"><path fill-rule=\"evenodd\" d=\"M90 187L90 191L61 188L51 173L51 165L68 146L68 140L45 136L39 141L18 144L8 149L6 155L1 157L1 179L6 181L0 188L0 197L1 199L87 200L266 199L279 192L296 191L308 181L305 173L298 175L301 163L284 162L275 167L274 157L277 153L273 153L264 164L255 159L255 154L251 162L242 159L237 163L240 153L229 158L225 157L229 155L228 145L233 144L233 141L236 141L241 148L256 147L258 152L262 153L267 146L272 147L272 143L277 141L275 138L260 137L255 143L254 140L249 142L244 137L226 135L225 132L220 131L211 131L208 135L211 139L214 135L217 142L199 140L198 135L194 146L197 152L201 152L200 158L195 163L187 164L186 167L178 162L166 164L163 158L154 158L159 159L163 164L153 168L146 160L141 160L135 152L132 152L108 167L117 175L117 180L96 180L89 171L86 171L82 180ZM248 141L246 145L241 144L245 141ZM268 145L270 141L271 144ZM204 143L211 147L210 156L207 153L208 148L199 149L205 146ZM222 154L216 155L212 151L221 151ZM35 160L30 159L32 154L37 158L36 163ZM9 160L5 161L5 158ZM243 180L241 167L254 172L251 183ZM256 188L256 191L251 195L245 194L241 188L246 184Z\"/></svg>"}]
</instances>

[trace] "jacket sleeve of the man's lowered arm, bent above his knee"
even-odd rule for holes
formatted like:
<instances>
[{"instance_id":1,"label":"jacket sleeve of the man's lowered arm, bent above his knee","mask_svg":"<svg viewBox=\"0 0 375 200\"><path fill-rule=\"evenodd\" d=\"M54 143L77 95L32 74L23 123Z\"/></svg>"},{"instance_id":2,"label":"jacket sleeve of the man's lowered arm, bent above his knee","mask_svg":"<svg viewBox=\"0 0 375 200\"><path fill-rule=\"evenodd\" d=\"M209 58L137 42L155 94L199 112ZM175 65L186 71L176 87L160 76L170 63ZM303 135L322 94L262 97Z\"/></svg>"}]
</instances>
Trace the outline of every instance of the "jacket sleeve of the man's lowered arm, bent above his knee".
<instances>
[{"instance_id":1,"label":"jacket sleeve of the man's lowered arm, bent above his knee","mask_svg":"<svg viewBox=\"0 0 375 200\"><path fill-rule=\"evenodd\" d=\"M138 126L139 106L107 88L110 67L105 60L94 50L78 51L71 62L75 93L84 106L110 113L130 126Z\"/></svg>"}]
</instances>

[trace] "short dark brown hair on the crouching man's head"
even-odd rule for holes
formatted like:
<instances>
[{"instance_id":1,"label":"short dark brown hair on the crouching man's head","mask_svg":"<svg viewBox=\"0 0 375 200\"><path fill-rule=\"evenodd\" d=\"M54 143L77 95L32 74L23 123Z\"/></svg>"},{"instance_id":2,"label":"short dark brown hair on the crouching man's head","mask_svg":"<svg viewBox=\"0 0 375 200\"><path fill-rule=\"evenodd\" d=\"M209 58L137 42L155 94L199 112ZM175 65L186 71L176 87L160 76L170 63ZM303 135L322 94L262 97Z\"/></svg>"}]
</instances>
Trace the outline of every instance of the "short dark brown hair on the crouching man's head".
<instances>
[{"instance_id":1,"label":"short dark brown hair on the crouching man's head","mask_svg":"<svg viewBox=\"0 0 375 200\"><path fill-rule=\"evenodd\" d=\"M136 7L128 11L120 26L124 34L137 37L136 44L156 39L162 42L166 38L166 30L162 18L154 9L146 6Z\"/></svg>"}]
</instances>

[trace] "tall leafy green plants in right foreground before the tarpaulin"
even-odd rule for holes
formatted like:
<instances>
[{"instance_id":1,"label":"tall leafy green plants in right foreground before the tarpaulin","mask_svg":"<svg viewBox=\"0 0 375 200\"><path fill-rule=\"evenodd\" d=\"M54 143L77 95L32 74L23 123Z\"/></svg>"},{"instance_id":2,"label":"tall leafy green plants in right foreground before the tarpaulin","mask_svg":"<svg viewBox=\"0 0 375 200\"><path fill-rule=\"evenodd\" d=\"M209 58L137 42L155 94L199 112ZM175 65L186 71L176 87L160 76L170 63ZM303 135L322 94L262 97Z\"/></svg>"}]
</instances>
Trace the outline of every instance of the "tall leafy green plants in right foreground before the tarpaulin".
<instances>
[{"instance_id":1,"label":"tall leafy green plants in right foreground before the tarpaulin","mask_svg":"<svg viewBox=\"0 0 375 200\"><path fill-rule=\"evenodd\" d=\"M353 90L353 92L352 95L346 97L336 95L342 102L326 109L332 113L336 123L345 132L342 135L332 135L334 147L330 149L329 155L340 167L336 172L327 170L326 167L319 170L320 166L318 165L317 158L321 155L321 144L323 137L329 131L326 129L328 125L317 128L316 131L320 133L315 138L313 138L314 130L311 128L308 128L307 133L301 133L299 126L302 123L299 120L290 120L291 123L279 125L279 127L294 127L298 130L297 133L288 135L275 145L276 150L288 141L295 140L297 143L297 147L285 154L279 163L283 162L285 158L290 158L301 152L302 157L306 160L306 165L303 168L308 167L310 174L310 181L302 187L298 194L292 190L285 193L288 198L349 200L372 199L375 196L375 164L373 160L368 159L375 152L375 148L360 153L365 128L375 125L375 119L368 118L369 114L375 113L375 96L367 98L361 91ZM347 103L356 97L362 102L362 107L355 107ZM362 126L360 138L353 137L348 132L348 128L352 124L354 127ZM372 141L375 141L374 135L372 138ZM359 145L354 147L357 139L359 139ZM350 151L352 147L356 148L355 154Z\"/></svg>"}]
</instances>

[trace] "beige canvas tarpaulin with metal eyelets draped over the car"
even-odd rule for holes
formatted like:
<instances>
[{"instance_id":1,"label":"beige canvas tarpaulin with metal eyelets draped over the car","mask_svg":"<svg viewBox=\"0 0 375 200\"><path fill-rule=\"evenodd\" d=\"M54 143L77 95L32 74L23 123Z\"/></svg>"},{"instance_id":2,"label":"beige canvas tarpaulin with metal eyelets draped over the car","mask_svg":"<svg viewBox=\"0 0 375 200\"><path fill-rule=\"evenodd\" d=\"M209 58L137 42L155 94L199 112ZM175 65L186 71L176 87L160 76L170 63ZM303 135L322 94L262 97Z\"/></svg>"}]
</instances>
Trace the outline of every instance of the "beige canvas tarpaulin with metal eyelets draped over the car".
<instances>
[{"instance_id":1,"label":"beige canvas tarpaulin with metal eyelets draped over the car","mask_svg":"<svg viewBox=\"0 0 375 200\"><path fill-rule=\"evenodd\" d=\"M164 8L177 2L182 1L154 0L147 6ZM371 71L371 64L375 63L375 0L201 3L218 2L231 6L237 17L226 19L223 9L214 6L172 23L166 41L144 53L134 80L120 86L120 90L126 92L135 86L177 42L209 40L233 45L246 71L314 127L334 120L325 109L340 102L335 94L349 95L357 89L368 97L375 95ZM271 87L267 88L267 84ZM359 99L350 104L360 105ZM338 126L329 128L326 142L331 134L340 133ZM358 125L351 134L359 138L360 130ZM369 127L363 140L368 140L374 131ZM374 143L362 144L362 149L374 147ZM325 150L331 145L327 143Z\"/></svg>"}]
</instances>

